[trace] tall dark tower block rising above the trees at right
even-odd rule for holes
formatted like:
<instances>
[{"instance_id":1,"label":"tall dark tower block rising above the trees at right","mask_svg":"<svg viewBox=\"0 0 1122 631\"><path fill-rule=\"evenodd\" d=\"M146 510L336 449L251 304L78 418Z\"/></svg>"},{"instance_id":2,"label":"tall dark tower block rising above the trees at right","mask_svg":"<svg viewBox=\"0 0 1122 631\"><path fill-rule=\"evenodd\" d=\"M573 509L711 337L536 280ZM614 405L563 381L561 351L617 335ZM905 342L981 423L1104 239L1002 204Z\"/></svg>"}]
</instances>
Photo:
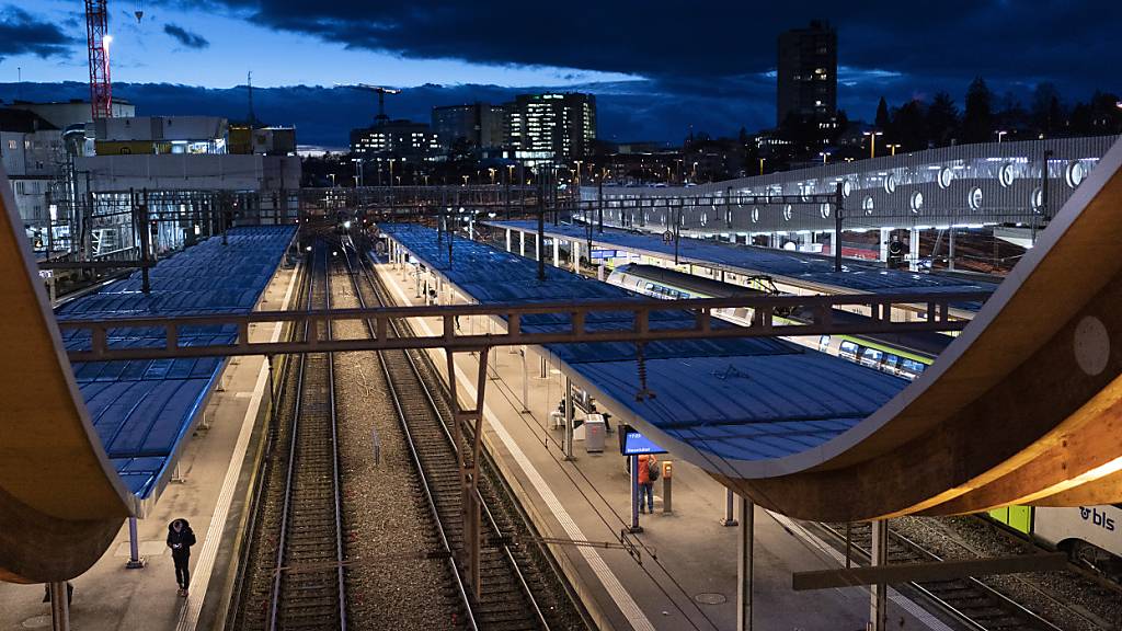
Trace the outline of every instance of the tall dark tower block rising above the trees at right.
<instances>
[{"instance_id":1,"label":"tall dark tower block rising above the trees at right","mask_svg":"<svg viewBox=\"0 0 1122 631\"><path fill-rule=\"evenodd\" d=\"M779 36L775 125L794 115L806 121L829 121L837 113L838 36L829 22Z\"/></svg>"}]
</instances>

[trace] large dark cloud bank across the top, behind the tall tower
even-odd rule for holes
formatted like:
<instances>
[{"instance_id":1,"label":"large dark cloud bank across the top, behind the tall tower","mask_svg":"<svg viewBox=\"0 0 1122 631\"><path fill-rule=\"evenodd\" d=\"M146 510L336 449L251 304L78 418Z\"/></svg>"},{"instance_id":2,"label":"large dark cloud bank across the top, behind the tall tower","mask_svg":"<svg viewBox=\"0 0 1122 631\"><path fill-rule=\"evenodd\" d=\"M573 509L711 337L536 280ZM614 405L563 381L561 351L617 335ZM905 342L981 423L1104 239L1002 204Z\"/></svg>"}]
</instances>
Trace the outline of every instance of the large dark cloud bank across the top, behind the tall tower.
<instances>
[{"instance_id":1,"label":"large dark cloud bank across the top, behind the tall tower","mask_svg":"<svg viewBox=\"0 0 1122 631\"><path fill-rule=\"evenodd\" d=\"M199 0L163 0L183 9ZM810 18L838 28L840 63L912 77L1048 80L1088 89L1122 62L1116 0L901 3L625 0L205 0L256 25L414 58L550 65L646 77L728 77L775 65L775 37Z\"/></svg>"}]
</instances>

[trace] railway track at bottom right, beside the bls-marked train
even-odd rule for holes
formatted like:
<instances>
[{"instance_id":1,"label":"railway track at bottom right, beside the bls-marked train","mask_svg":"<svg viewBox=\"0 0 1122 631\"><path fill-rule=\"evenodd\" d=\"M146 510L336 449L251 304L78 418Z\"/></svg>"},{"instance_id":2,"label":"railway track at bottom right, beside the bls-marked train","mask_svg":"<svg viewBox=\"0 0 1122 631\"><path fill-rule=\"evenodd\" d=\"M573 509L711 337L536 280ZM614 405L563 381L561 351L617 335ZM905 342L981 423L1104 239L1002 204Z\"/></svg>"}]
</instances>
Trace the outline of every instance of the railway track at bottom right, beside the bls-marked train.
<instances>
[{"instance_id":1,"label":"railway track at bottom right, beside the bls-marked train","mask_svg":"<svg viewBox=\"0 0 1122 631\"><path fill-rule=\"evenodd\" d=\"M846 524L819 524L828 537L844 547ZM872 528L854 523L849 531L853 551L861 565L867 565L872 548ZM889 563L908 564L942 560L919 543L889 531ZM934 604L966 629L976 631L1063 631L1020 603L982 583L969 578L911 583L923 600Z\"/></svg>"}]
</instances>

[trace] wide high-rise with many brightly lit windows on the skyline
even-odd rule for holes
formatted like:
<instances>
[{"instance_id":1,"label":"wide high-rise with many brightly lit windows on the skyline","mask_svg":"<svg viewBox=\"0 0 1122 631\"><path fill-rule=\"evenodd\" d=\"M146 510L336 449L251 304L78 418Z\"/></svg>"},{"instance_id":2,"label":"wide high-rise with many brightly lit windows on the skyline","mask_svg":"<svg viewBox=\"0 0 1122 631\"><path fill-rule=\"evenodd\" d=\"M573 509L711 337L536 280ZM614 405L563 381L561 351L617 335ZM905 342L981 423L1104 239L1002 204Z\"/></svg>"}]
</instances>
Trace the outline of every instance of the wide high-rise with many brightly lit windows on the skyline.
<instances>
[{"instance_id":1,"label":"wide high-rise with many brightly lit windows on the skyline","mask_svg":"<svg viewBox=\"0 0 1122 631\"><path fill-rule=\"evenodd\" d=\"M518 94L506 110L504 141L514 157L570 161L587 155L596 140L592 94Z\"/></svg>"}]
</instances>

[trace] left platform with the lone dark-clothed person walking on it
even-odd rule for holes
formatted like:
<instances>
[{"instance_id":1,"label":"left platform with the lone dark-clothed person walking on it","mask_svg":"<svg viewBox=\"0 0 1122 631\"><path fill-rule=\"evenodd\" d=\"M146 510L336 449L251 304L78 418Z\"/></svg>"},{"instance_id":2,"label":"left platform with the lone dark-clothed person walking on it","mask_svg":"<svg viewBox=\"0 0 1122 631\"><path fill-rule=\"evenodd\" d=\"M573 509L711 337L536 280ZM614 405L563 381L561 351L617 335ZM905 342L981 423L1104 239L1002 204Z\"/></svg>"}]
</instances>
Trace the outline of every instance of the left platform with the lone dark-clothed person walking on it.
<instances>
[{"instance_id":1,"label":"left platform with the lone dark-clothed person walking on it","mask_svg":"<svg viewBox=\"0 0 1122 631\"><path fill-rule=\"evenodd\" d=\"M270 271L272 274L272 271ZM280 267L255 298L258 309L284 309L297 292L296 268ZM102 296L111 300L113 296ZM252 302L250 303L252 304ZM274 324L251 324L255 340L277 339ZM213 378L213 391L178 440L158 502L138 520L137 542L145 566L128 569L130 539L122 524L108 551L74 586L73 629L90 631L194 631L221 629L232 567L245 519L264 415L269 406L269 371L264 357L231 358ZM148 488L153 484L147 483ZM138 487L140 488L140 487ZM167 524L186 519L197 543L191 555L190 596L176 594ZM49 629L42 584L0 583L0 629Z\"/></svg>"}]
</instances>

